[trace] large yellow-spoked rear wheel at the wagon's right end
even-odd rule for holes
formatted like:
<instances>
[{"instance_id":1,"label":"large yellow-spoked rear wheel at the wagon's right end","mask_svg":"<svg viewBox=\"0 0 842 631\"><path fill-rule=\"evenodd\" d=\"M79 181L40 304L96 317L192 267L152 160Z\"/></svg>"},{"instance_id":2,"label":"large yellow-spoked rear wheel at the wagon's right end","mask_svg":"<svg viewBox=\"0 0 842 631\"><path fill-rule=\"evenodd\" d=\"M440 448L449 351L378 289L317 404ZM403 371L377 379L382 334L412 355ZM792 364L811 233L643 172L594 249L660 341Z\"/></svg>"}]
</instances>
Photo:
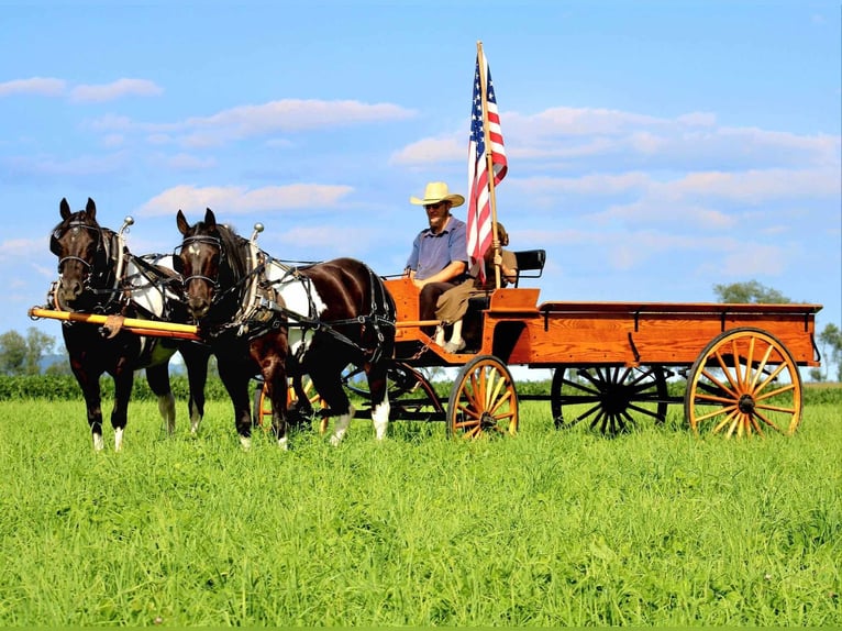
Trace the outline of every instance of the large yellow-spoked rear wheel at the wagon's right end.
<instances>
[{"instance_id":1,"label":"large yellow-spoked rear wheel at the wagon's right end","mask_svg":"<svg viewBox=\"0 0 842 631\"><path fill-rule=\"evenodd\" d=\"M801 376L789 351L760 329L713 339L687 377L684 411L697 434L790 435L801 420Z\"/></svg>"}]
</instances>

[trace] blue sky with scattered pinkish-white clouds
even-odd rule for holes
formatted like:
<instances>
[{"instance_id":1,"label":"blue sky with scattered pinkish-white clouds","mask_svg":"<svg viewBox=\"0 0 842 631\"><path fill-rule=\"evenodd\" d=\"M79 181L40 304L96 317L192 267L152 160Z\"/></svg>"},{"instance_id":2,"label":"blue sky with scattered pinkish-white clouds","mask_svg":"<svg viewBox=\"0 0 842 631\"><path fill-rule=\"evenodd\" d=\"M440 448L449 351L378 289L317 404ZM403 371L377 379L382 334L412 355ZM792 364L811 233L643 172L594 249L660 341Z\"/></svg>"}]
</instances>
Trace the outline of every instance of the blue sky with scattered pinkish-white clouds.
<instances>
[{"instance_id":1,"label":"blue sky with scattered pinkish-white clouds","mask_svg":"<svg viewBox=\"0 0 842 631\"><path fill-rule=\"evenodd\" d=\"M66 197L134 253L211 207L279 258L403 268L409 197L467 182L476 43L512 248L542 300L714 301L757 280L842 324L833 2L0 0L0 332L56 276ZM464 219L464 207L456 210Z\"/></svg>"}]
</instances>

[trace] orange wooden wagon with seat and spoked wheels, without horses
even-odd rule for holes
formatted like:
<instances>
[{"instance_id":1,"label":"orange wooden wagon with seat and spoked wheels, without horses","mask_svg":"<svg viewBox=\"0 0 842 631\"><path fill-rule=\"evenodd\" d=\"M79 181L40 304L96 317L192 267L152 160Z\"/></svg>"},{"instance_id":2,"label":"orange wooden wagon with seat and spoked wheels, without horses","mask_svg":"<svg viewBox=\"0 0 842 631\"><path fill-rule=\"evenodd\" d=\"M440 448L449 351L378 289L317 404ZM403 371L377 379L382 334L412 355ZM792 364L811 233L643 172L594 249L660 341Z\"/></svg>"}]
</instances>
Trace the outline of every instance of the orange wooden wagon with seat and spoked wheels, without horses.
<instances>
[{"instance_id":1,"label":"orange wooden wagon with seat and spoked wheels, without horses","mask_svg":"<svg viewBox=\"0 0 842 631\"><path fill-rule=\"evenodd\" d=\"M544 251L516 254L520 278L541 276ZM800 422L799 367L819 365L820 305L540 302L540 289L518 285L472 298L468 346L448 353L424 332L436 322L418 320L412 283L386 280L397 305L394 420L443 421L453 436L513 434L519 402L539 400L558 429L585 423L608 434L662 423L669 406L683 407L697 433L791 434ZM550 369L549 392L519 394L514 366ZM425 368L456 372L448 394ZM344 383L365 397L358 375L350 369ZM259 390L256 399L261 419Z\"/></svg>"}]
</instances>

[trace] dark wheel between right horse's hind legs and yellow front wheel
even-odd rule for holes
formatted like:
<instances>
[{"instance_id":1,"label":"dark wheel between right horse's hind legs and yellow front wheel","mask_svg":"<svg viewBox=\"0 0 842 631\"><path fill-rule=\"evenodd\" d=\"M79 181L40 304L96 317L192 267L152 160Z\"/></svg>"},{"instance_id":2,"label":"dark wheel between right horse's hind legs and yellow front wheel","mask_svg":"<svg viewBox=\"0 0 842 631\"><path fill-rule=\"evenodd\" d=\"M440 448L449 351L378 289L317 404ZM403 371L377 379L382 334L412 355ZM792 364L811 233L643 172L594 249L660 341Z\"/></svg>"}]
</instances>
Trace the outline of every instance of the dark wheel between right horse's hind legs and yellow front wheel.
<instances>
[{"instance_id":1,"label":"dark wheel between right horse's hind legs and yellow front wheel","mask_svg":"<svg viewBox=\"0 0 842 631\"><path fill-rule=\"evenodd\" d=\"M440 421L444 418L444 407L430 381L403 362L394 362L388 370L389 406L392 420ZM368 384L362 368L353 368L343 375L345 388L372 400Z\"/></svg>"}]
</instances>

